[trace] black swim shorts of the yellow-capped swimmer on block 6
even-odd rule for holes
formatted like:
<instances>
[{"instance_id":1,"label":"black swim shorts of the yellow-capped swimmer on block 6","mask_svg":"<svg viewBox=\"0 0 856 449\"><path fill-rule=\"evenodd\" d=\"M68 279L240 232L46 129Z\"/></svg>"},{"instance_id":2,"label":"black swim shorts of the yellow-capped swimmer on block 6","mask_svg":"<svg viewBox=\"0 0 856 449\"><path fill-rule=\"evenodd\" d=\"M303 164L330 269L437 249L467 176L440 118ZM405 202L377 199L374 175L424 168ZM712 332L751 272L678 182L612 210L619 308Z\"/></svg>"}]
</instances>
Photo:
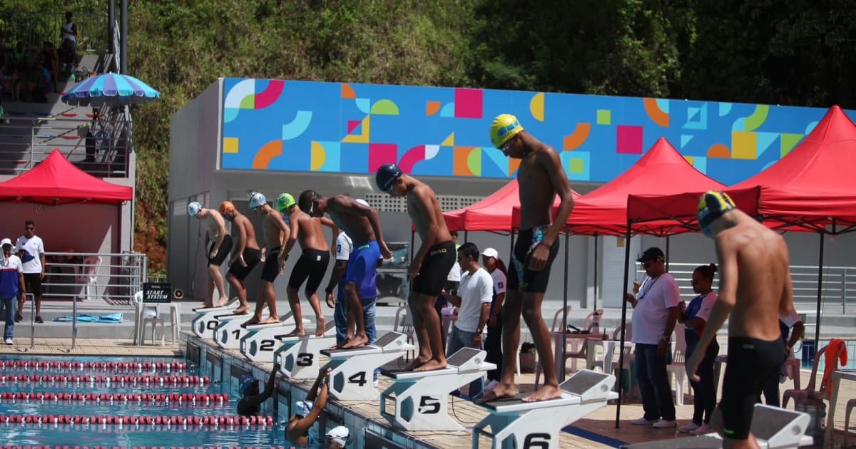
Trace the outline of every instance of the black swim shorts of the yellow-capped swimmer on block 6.
<instances>
[{"instance_id":1,"label":"black swim shorts of the yellow-capped swimmer on block 6","mask_svg":"<svg viewBox=\"0 0 856 449\"><path fill-rule=\"evenodd\" d=\"M520 231L517 243L514 244L514 252L511 253L511 269L508 270L508 290L519 292L543 293L547 291L547 282L550 281L550 267L556 255L559 254L559 245L550 247L550 257L541 271L528 269L529 259L532 251L544 240L547 228L550 225L541 225L531 229Z\"/></svg>"}]
</instances>

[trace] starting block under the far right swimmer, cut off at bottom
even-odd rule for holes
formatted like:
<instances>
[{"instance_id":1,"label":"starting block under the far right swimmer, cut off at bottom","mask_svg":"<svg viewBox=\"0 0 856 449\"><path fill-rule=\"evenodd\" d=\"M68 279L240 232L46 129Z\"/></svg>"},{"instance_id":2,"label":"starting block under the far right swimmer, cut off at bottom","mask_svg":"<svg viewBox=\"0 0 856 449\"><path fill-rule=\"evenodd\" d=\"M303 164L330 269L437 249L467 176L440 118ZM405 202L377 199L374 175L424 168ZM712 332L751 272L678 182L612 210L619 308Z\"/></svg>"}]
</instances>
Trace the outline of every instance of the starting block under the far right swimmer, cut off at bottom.
<instances>
[{"instance_id":1,"label":"starting block under the far right swimmer, cut off at bottom","mask_svg":"<svg viewBox=\"0 0 856 449\"><path fill-rule=\"evenodd\" d=\"M785 449L812 446L811 436L805 435L811 417L800 411L790 411L769 405L756 404L752 411L750 431L758 439L758 446L768 449ZM722 447L722 439L716 433L687 438L649 441L621 446L625 449L714 449Z\"/></svg>"}]
</instances>

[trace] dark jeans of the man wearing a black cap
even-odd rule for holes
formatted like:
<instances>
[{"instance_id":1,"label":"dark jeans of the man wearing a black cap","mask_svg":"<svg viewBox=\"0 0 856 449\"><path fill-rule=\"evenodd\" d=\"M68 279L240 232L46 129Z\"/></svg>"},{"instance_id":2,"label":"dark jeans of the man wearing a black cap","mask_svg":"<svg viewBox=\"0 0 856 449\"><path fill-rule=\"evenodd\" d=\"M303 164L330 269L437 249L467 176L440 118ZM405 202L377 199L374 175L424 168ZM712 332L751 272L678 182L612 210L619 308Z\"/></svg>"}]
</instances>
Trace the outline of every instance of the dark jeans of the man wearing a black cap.
<instances>
[{"instance_id":1,"label":"dark jeans of the man wearing a black cap","mask_svg":"<svg viewBox=\"0 0 856 449\"><path fill-rule=\"evenodd\" d=\"M636 344L636 381L642 393L645 419L675 421L675 401L666 373L666 357L657 357L657 345Z\"/></svg>"}]
</instances>

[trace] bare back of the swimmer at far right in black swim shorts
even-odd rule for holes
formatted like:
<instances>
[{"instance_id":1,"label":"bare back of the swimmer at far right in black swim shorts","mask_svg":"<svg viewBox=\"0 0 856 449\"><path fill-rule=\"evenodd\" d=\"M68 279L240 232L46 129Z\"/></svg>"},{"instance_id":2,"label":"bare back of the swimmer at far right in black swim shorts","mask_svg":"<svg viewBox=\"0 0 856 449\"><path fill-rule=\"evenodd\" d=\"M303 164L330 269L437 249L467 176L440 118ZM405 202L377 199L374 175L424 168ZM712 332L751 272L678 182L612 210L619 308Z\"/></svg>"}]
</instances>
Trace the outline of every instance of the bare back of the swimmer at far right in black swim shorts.
<instances>
[{"instance_id":1,"label":"bare back of the swimmer at far right in black swim shorts","mask_svg":"<svg viewBox=\"0 0 856 449\"><path fill-rule=\"evenodd\" d=\"M788 245L782 236L743 212L734 227L716 235L723 288L736 287L736 303L728 318L728 336L776 340L779 313L794 309ZM728 280L731 273L734 280ZM736 282L736 286L726 287Z\"/></svg>"}]
</instances>

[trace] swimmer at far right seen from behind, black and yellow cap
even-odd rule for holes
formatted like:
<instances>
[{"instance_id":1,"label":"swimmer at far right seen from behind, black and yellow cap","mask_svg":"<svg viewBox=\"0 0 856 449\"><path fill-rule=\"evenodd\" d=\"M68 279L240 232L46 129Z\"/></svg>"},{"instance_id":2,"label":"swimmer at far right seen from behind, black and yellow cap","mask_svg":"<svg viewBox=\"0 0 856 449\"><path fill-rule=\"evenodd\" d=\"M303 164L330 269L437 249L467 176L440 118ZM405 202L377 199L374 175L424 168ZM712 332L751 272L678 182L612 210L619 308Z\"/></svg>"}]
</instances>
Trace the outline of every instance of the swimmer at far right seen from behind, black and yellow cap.
<instances>
[{"instance_id":1,"label":"swimmer at far right seen from behind, black and yellow cap","mask_svg":"<svg viewBox=\"0 0 856 449\"><path fill-rule=\"evenodd\" d=\"M710 319L687 360L687 374L698 381L698 364L730 314L722 401L710 424L722 435L723 447L758 447L749 432L752 411L784 363L779 316L794 313L788 245L779 233L738 210L722 192L702 195L698 226L714 239L722 277Z\"/></svg>"}]
</instances>

